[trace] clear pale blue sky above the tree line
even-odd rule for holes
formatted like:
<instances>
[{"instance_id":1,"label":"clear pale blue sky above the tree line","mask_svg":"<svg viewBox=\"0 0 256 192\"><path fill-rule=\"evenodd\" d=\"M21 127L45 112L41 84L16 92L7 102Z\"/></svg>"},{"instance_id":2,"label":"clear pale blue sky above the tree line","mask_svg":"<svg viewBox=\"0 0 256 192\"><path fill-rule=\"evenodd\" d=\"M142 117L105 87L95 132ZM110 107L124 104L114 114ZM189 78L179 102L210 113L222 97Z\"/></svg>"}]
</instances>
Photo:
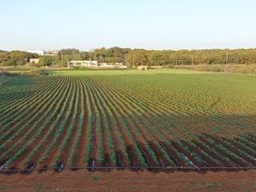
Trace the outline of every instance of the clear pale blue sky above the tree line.
<instances>
[{"instance_id":1,"label":"clear pale blue sky above the tree line","mask_svg":"<svg viewBox=\"0 0 256 192\"><path fill-rule=\"evenodd\" d=\"M255 0L3 0L0 50L256 47Z\"/></svg>"}]
</instances>

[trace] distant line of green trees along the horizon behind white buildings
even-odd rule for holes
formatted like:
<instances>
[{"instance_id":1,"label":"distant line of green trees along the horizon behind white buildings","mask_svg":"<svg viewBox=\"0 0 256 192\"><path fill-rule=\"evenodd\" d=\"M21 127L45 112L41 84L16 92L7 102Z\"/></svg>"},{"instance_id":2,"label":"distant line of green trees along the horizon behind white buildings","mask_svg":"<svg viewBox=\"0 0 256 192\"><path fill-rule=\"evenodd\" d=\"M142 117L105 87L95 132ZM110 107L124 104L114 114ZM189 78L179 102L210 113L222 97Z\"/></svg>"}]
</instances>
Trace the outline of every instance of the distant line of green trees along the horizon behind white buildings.
<instances>
[{"instance_id":1,"label":"distant line of green trees along the horizon behind white buildings","mask_svg":"<svg viewBox=\"0 0 256 192\"><path fill-rule=\"evenodd\" d=\"M39 56L25 51L0 51L0 65L20 66L39 58L38 66L66 66L70 60L123 62L127 66L182 66L198 64L255 64L256 49L238 50L142 50L112 47L93 51L60 50L55 56Z\"/></svg>"}]
</instances>

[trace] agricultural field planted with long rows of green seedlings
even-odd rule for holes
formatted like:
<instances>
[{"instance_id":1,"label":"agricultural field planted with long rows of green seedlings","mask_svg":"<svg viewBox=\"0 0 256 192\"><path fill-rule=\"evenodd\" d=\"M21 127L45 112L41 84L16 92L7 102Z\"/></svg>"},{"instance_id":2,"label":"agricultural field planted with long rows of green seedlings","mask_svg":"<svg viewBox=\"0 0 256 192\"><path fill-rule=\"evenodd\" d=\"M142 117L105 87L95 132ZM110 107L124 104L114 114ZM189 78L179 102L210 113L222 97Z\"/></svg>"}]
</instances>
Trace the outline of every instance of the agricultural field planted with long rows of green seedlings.
<instances>
[{"instance_id":1,"label":"agricultural field planted with long rows of green seedlings","mask_svg":"<svg viewBox=\"0 0 256 192\"><path fill-rule=\"evenodd\" d=\"M255 168L256 76L50 71L0 78L0 170Z\"/></svg>"}]
</instances>

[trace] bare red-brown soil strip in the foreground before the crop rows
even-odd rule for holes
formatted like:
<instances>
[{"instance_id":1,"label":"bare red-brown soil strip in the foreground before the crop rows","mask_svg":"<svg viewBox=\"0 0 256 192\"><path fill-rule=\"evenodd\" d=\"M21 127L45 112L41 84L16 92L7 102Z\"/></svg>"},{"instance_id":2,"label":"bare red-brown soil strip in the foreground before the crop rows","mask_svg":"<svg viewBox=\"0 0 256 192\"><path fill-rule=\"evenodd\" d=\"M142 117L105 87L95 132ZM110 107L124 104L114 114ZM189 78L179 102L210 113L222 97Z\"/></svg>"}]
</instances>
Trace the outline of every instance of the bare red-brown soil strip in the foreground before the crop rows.
<instances>
[{"instance_id":1,"label":"bare red-brown soil strip in the foreground before the crop rows","mask_svg":"<svg viewBox=\"0 0 256 192\"><path fill-rule=\"evenodd\" d=\"M0 174L0 191L256 191L256 170L150 172L87 170Z\"/></svg>"}]
</instances>

